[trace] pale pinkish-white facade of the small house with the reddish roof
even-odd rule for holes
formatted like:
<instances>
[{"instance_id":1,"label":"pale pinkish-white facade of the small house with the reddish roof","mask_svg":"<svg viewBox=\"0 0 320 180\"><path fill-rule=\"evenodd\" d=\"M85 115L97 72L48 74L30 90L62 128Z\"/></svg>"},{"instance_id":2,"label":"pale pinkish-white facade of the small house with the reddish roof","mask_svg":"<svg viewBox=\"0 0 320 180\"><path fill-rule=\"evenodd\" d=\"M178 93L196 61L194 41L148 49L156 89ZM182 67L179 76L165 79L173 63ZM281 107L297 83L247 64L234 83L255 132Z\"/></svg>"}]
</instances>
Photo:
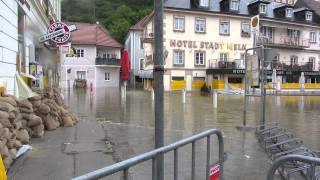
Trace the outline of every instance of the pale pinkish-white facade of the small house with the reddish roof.
<instances>
[{"instance_id":1,"label":"pale pinkish-white facade of the small house with the reddish roof","mask_svg":"<svg viewBox=\"0 0 320 180\"><path fill-rule=\"evenodd\" d=\"M81 50L83 56L66 57L61 55L61 79L62 88L72 88L76 79L87 80L87 86L99 87L118 87L120 71L120 49L102 48L95 45L73 45L77 51ZM112 57L115 64L101 64L97 58ZM69 72L68 72L69 70Z\"/></svg>"}]
</instances>

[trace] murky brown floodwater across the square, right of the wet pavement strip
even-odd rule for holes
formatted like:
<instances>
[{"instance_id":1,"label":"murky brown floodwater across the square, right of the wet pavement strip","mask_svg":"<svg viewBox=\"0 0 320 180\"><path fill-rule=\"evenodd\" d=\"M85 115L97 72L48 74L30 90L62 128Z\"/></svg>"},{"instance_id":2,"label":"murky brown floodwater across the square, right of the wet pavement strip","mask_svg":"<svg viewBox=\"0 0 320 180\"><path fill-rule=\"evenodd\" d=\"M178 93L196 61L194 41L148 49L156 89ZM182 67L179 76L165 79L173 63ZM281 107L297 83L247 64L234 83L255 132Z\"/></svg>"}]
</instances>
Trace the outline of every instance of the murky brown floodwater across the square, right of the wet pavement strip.
<instances>
[{"instance_id":1,"label":"murky brown floodwater across the square, right of the wet pavement strip","mask_svg":"<svg viewBox=\"0 0 320 180\"><path fill-rule=\"evenodd\" d=\"M181 92L167 92L164 97L165 144L175 142L201 131L217 128L224 134L225 179L265 179L270 160L257 144L254 131L239 131L243 123L243 96L219 95L218 108L213 108L211 96L188 93L182 103ZM116 156L125 160L151 150L154 146L154 101L151 92L128 90L122 100L119 89L96 89L92 94L84 90L65 92L66 100L79 116L95 118L105 129L106 136L115 146ZM268 96L266 121L278 122L290 129L304 144L320 150L320 97L319 96ZM258 125L259 98L250 97L247 125ZM179 150L179 175L190 179L191 147ZM205 172L205 143L197 144L196 179L203 179ZM214 158L217 161L217 142ZM165 156L166 178L172 179L172 154ZM151 164L130 170L133 179L151 179Z\"/></svg>"}]
</instances>

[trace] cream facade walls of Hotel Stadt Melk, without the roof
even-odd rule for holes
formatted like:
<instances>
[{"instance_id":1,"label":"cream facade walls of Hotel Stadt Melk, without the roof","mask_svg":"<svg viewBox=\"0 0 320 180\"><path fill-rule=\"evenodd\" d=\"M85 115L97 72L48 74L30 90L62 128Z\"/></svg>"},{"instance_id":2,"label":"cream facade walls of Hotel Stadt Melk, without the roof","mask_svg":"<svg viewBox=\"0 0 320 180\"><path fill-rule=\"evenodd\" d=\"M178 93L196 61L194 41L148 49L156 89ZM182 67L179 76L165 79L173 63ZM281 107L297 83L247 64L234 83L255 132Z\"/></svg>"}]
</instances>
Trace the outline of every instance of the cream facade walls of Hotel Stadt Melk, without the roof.
<instances>
[{"instance_id":1,"label":"cream facade walls of Hotel Stadt Melk, without the roof","mask_svg":"<svg viewBox=\"0 0 320 180\"><path fill-rule=\"evenodd\" d=\"M182 18L183 29L177 30L179 24L175 27L174 19ZM239 16L237 14L212 13L206 11L192 11L179 8L168 8L164 11L164 47L168 52L165 58L164 88L166 91L172 90L174 80L185 81L184 88L191 91L193 82L205 80L211 85L212 79L222 79L225 82L230 79L243 81L243 72L241 73L219 73L219 62L234 63L233 69L244 68L244 52L247 48L253 47L253 36L243 36L241 34L242 24L250 23L250 16ZM202 19L205 21L204 32L196 32L196 21ZM229 32L221 34L221 22L229 24ZM261 18L261 26L272 28L271 41L265 45L277 49L279 52L278 63L290 64L293 56L298 59L299 66L309 63L310 58L314 58L312 69L308 71L318 71L320 63L320 26L294 21L281 21L276 19ZM288 29L298 30L300 33L299 45L288 45ZM315 32L316 41L310 43L310 32ZM145 57L146 61L152 61L153 54L153 22L152 20L145 27ZM151 39L151 40L150 40ZM262 33L258 39L264 40ZM263 42L263 41L262 41ZM261 42L260 42L261 43ZM176 64L175 53L181 52L183 62ZM196 63L196 53L201 52L204 56L204 63ZM150 57L150 58L148 58ZM212 71L208 71L212 70ZM211 72L211 73L208 73ZM213 73L212 73L213 72ZM288 79L280 78L283 82ZM307 78L308 79L308 78ZM232 80L231 80L232 81ZM291 81L291 80L290 80ZM314 77L307 81L314 82Z\"/></svg>"}]
</instances>

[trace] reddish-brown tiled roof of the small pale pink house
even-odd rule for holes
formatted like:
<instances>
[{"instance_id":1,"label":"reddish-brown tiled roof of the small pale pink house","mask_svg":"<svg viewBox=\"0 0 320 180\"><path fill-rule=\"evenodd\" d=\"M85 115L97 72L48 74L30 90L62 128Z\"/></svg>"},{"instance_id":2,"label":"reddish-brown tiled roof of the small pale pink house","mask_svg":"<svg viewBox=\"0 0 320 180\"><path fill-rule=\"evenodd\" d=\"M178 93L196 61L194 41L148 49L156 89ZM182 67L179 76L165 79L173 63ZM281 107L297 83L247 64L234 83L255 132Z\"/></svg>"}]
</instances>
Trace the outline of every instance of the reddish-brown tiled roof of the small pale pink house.
<instances>
[{"instance_id":1,"label":"reddish-brown tiled roof of the small pale pink house","mask_svg":"<svg viewBox=\"0 0 320 180\"><path fill-rule=\"evenodd\" d=\"M122 45L100 24L70 22L67 24L74 24L77 26L77 30L71 32L72 44L122 48Z\"/></svg>"}]
</instances>

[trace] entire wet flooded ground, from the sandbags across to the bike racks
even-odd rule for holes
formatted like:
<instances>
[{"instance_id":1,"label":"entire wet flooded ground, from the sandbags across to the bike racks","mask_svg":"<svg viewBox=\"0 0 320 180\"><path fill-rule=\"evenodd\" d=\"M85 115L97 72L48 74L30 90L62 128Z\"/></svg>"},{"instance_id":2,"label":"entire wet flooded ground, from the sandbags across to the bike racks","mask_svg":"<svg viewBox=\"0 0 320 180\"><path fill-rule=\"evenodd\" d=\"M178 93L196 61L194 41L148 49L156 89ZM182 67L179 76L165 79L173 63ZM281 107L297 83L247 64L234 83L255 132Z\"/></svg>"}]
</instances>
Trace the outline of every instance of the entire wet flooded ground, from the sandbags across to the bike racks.
<instances>
[{"instance_id":1,"label":"entire wet flooded ground, from the sandbags across to the bike racks","mask_svg":"<svg viewBox=\"0 0 320 180\"><path fill-rule=\"evenodd\" d=\"M82 90L64 94L67 104L80 117L80 123L49 132L42 140L33 140L34 150L10 170L12 179L69 179L153 149L154 102L150 92L129 90L125 103L118 89L97 89L93 95ZM257 144L253 131L236 129L242 124L243 96L220 95L218 109L213 108L210 96L197 93L188 93L185 104L180 92L165 93L164 99L165 144L206 129L220 129L228 157L225 179L265 179L271 162ZM268 96L266 119L279 122L296 132L307 147L320 150L319 109L318 96ZM255 127L258 116L258 98L250 98L248 126ZM206 145L202 141L196 145L196 179L204 179ZM214 145L212 162L218 160L217 140ZM179 153L179 176L188 180L191 146ZM150 179L151 162L129 172L132 179ZM165 179L172 179L173 153L165 156L165 174ZM108 179L120 179L120 175Z\"/></svg>"}]
</instances>

